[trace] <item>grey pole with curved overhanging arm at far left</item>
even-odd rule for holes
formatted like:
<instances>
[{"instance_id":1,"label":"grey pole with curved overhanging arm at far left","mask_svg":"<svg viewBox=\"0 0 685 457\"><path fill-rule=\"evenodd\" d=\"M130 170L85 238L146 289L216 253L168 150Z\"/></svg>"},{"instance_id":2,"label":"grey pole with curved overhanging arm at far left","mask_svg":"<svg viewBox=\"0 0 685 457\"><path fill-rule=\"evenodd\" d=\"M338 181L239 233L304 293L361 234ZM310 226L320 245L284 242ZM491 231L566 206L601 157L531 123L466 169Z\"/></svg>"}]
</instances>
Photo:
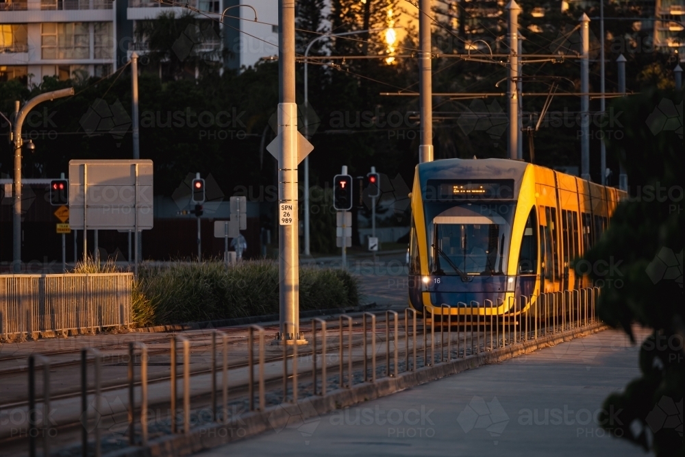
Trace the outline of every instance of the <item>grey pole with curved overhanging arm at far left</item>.
<instances>
[{"instance_id":1,"label":"grey pole with curved overhanging arm at far left","mask_svg":"<svg viewBox=\"0 0 685 457\"><path fill-rule=\"evenodd\" d=\"M21 271L21 127L24 124L26 116L29 111L42 103L43 101L59 99L62 97L69 97L74 95L74 89L60 89L52 92L45 92L27 101L21 110L19 110L19 101L14 103L14 132L12 133L12 142L14 143L14 219L12 221L12 270L14 273Z\"/></svg>"}]
</instances>

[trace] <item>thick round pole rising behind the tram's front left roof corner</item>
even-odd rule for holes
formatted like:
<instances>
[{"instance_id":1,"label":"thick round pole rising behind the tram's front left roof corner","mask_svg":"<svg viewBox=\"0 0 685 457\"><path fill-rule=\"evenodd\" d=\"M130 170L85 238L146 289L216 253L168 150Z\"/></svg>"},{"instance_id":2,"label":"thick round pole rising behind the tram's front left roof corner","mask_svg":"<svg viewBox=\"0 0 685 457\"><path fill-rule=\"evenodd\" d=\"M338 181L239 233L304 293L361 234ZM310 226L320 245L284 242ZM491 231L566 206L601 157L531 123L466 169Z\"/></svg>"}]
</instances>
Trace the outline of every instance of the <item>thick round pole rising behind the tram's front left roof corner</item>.
<instances>
[{"instance_id":1,"label":"thick round pole rising behind the tram's front left roof corner","mask_svg":"<svg viewBox=\"0 0 685 457\"><path fill-rule=\"evenodd\" d=\"M513 0L512 0L513 1ZM419 0L419 92L421 104L421 145L419 163L433 161L433 86L431 69L430 0Z\"/></svg>"}]
</instances>

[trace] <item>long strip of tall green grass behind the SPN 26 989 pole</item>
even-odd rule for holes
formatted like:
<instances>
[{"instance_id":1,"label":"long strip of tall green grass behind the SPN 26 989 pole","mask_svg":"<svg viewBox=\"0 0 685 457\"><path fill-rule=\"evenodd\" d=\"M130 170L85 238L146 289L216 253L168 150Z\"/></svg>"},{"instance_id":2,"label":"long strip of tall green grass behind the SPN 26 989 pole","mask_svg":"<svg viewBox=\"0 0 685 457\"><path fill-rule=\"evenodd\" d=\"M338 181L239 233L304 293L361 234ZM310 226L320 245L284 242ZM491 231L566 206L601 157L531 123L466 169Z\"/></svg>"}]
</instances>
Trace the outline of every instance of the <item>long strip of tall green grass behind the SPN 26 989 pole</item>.
<instances>
[{"instance_id":1,"label":"long strip of tall green grass behind the SPN 26 989 pole","mask_svg":"<svg viewBox=\"0 0 685 457\"><path fill-rule=\"evenodd\" d=\"M117 271L113 262L78 264L75 273ZM301 310L359 304L358 281L347 271L300 268ZM249 260L226 268L223 262L143 263L134 283L133 312L138 326L210 321L276 314L278 264Z\"/></svg>"}]
</instances>

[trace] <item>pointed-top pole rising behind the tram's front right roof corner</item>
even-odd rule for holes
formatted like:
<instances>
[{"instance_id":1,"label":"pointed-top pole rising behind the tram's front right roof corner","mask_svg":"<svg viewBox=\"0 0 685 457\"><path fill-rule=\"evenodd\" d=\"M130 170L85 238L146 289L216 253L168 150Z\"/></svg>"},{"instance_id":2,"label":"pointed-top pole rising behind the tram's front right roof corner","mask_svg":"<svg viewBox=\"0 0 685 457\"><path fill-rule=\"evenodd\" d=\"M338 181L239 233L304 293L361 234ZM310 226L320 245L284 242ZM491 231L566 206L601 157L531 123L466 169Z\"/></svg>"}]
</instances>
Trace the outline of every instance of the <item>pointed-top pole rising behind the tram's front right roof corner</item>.
<instances>
[{"instance_id":1,"label":"pointed-top pole rising behind the tram's front right roof corner","mask_svg":"<svg viewBox=\"0 0 685 457\"><path fill-rule=\"evenodd\" d=\"M519 158L519 95L516 91L516 79L519 77L519 14L521 7L511 0L506 5L509 12L509 77L507 97L509 99L509 141L507 153L510 159Z\"/></svg>"}]
</instances>

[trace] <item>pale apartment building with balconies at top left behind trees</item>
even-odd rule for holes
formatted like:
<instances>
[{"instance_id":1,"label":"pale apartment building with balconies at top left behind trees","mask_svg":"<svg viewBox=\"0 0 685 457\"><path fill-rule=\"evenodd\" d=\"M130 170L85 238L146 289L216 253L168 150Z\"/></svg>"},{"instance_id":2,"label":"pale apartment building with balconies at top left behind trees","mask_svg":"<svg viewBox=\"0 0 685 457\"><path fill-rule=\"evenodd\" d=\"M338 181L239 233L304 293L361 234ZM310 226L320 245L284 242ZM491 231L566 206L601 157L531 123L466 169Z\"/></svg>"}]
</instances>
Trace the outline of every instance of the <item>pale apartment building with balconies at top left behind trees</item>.
<instances>
[{"instance_id":1,"label":"pale apartment building with balconies at top left behind trees","mask_svg":"<svg viewBox=\"0 0 685 457\"><path fill-rule=\"evenodd\" d=\"M206 12L196 14L199 21L212 23L225 8L241 3L246 4L245 0L191 0L188 5ZM233 17L224 19L215 39L192 42L192 34L185 32L179 39L190 39L196 50L228 47L228 68L254 65L277 53L277 2L249 4L259 21L269 24L256 23L251 8L232 8L227 16ZM0 0L0 81L39 84L45 76L108 75L125 64L132 51L145 53L147 44L134 36L138 21L157 18L162 12L180 15L184 5L186 1L173 0Z\"/></svg>"}]
</instances>

